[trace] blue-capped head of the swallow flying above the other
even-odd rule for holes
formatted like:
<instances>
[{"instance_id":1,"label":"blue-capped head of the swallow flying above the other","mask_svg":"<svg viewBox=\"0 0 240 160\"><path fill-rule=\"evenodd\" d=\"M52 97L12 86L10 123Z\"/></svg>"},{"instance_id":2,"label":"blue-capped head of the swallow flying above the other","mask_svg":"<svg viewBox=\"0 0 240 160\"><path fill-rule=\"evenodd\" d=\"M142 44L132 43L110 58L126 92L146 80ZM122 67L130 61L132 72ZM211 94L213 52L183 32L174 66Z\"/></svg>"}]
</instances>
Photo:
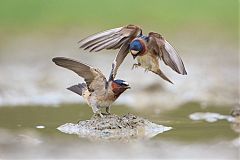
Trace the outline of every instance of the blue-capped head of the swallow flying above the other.
<instances>
[{"instance_id":1,"label":"blue-capped head of the swallow flying above the other","mask_svg":"<svg viewBox=\"0 0 240 160\"><path fill-rule=\"evenodd\" d=\"M135 59L144 50L144 46L139 39L135 39L130 43L130 52Z\"/></svg>"}]
</instances>

